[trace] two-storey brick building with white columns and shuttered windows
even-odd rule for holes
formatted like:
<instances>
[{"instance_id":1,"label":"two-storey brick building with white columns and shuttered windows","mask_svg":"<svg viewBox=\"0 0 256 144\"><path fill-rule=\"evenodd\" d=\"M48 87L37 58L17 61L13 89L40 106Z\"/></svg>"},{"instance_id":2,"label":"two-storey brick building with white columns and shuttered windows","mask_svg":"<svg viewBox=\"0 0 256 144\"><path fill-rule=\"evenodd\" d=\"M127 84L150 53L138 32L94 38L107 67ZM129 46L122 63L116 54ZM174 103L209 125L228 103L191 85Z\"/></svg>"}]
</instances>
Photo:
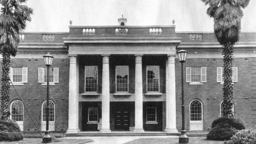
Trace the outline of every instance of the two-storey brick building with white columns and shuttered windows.
<instances>
[{"instance_id":1,"label":"two-storey brick building with white columns and shuttered windows","mask_svg":"<svg viewBox=\"0 0 256 144\"><path fill-rule=\"evenodd\" d=\"M181 129L181 66L184 63L187 130L208 130L221 116L222 48L209 32L176 32L175 26L69 26L67 33L21 33L11 57L11 119L45 130L46 70L50 68L50 130L134 132ZM240 33L234 47L234 115L256 124L256 33Z\"/></svg>"}]
</instances>

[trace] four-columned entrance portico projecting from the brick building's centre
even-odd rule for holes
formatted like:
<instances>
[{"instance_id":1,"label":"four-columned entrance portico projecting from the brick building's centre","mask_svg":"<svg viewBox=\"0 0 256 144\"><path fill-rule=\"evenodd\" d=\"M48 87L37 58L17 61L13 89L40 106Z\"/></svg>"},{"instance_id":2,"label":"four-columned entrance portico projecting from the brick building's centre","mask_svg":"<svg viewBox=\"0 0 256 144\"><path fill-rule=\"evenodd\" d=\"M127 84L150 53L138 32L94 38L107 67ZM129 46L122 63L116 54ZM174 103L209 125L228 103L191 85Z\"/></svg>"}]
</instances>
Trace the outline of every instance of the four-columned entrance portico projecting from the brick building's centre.
<instances>
[{"instance_id":1,"label":"four-columned entrance portico projecting from the brick building's centre","mask_svg":"<svg viewBox=\"0 0 256 144\"><path fill-rule=\"evenodd\" d=\"M69 46L70 58L69 127L67 133L78 133L80 129L82 130L79 120L80 123L84 123L84 121L79 114L78 103L80 102L86 102L83 103L83 107L86 107L86 110L83 111L86 111L87 114L84 115L87 117L87 125L96 125L101 117L100 131L104 133L110 132L113 129L112 125L115 125L113 122L117 122L114 120L115 116L111 116L113 115L110 109L111 102L134 103L134 112L132 112L133 110L127 111L130 114L129 124L134 125L134 132L144 132L143 127L146 125L153 126L160 123L165 124L163 129L166 133L178 132L176 129L174 59L180 38L175 37L174 26L159 26L157 29L161 29L161 34L157 35L148 33L151 26L122 26L122 29L128 31L127 34L122 35L118 34L119 31L114 31L117 26L70 26L69 28L69 37L63 38L64 43ZM77 31L89 28L94 29L94 35L77 34ZM110 33L111 30L115 33ZM100 31L108 31L108 33L102 37L99 35ZM142 32L145 34L141 35ZM96 57L97 61L90 61L93 57ZM162 66L165 59L168 60ZM89 92L88 90L92 89L91 80L81 78L81 76L86 77L92 66L94 66L94 70L96 68L97 70L95 70L96 73L94 72L95 76L90 77L94 77L95 82L93 91ZM81 85L79 81L83 81L84 85ZM90 87L88 88L89 81ZM96 104L100 105L98 108L86 106L90 102L98 102L101 105ZM161 110L161 103L156 102L165 103L166 111ZM113 105L114 103L112 103L112 107ZM99 116L99 109L101 109L101 116ZM152 113L154 111L156 114ZM166 119L162 118L159 121L157 120L158 113L161 112L165 113ZM125 113L123 115L125 116ZM89 116L95 118L94 122L89 121Z\"/></svg>"}]
</instances>

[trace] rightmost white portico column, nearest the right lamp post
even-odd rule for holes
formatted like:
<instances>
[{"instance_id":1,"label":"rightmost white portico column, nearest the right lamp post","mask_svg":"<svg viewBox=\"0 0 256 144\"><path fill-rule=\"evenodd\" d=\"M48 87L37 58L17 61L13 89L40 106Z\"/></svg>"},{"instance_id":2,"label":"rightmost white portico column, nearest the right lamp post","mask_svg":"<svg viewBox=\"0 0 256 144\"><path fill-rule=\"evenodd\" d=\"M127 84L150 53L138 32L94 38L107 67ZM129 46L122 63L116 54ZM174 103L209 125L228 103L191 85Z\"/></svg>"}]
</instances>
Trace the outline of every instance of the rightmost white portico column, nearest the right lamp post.
<instances>
[{"instance_id":1,"label":"rightmost white portico column, nearest the right lamp post","mask_svg":"<svg viewBox=\"0 0 256 144\"><path fill-rule=\"evenodd\" d=\"M166 89L166 133L178 133L176 129L175 56L168 55Z\"/></svg>"}]
</instances>

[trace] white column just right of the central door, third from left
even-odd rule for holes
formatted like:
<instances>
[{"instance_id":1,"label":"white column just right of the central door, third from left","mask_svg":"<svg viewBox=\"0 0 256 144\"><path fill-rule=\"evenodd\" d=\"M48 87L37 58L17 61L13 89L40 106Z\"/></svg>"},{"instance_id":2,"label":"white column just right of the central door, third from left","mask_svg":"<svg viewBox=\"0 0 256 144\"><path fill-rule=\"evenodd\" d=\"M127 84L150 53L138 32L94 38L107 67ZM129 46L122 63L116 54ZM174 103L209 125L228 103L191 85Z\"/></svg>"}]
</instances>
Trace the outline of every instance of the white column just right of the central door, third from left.
<instances>
[{"instance_id":1,"label":"white column just right of the central door, third from left","mask_svg":"<svg viewBox=\"0 0 256 144\"><path fill-rule=\"evenodd\" d=\"M135 55L135 127L134 132L143 129L142 55Z\"/></svg>"}]
</instances>

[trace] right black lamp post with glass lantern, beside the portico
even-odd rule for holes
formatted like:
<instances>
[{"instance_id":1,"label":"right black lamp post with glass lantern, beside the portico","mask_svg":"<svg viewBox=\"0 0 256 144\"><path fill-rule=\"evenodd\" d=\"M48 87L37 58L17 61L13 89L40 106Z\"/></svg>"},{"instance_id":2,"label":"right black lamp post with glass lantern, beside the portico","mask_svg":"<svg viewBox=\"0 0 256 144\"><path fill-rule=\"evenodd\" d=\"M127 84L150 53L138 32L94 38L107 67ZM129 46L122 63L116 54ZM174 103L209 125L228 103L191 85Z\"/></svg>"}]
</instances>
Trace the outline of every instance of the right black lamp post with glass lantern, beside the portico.
<instances>
[{"instance_id":1,"label":"right black lamp post with glass lantern, beside the portico","mask_svg":"<svg viewBox=\"0 0 256 144\"><path fill-rule=\"evenodd\" d=\"M181 136L179 137L179 143L180 144L187 144L189 143L189 139L186 135L186 130L185 130L185 111L184 111L184 90L183 90L183 63L186 61L186 56L187 56L187 51L186 50L180 50L177 52L178 57L180 59L181 63L181 96L182 96L182 104L181 104L181 109L182 109L182 129L181 129Z\"/></svg>"}]
</instances>

